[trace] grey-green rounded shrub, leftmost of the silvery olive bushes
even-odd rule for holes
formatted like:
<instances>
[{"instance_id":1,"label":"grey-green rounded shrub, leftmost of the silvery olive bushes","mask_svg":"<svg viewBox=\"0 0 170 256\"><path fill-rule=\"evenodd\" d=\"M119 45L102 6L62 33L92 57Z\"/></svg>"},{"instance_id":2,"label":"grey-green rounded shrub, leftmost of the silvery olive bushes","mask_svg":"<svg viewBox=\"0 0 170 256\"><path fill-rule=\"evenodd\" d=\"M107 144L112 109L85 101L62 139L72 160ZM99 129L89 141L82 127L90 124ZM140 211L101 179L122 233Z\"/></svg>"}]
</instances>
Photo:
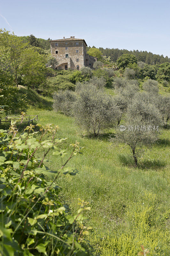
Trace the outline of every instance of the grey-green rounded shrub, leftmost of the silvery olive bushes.
<instances>
[{"instance_id":1,"label":"grey-green rounded shrub, leftmost of the silvery olive bushes","mask_svg":"<svg viewBox=\"0 0 170 256\"><path fill-rule=\"evenodd\" d=\"M72 105L75 101L76 97L73 92L69 90L58 91L53 95L54 103L53 108L56 111L61 111L66 115L71 115L72 113Z\"/></svg>"}]
</instances>

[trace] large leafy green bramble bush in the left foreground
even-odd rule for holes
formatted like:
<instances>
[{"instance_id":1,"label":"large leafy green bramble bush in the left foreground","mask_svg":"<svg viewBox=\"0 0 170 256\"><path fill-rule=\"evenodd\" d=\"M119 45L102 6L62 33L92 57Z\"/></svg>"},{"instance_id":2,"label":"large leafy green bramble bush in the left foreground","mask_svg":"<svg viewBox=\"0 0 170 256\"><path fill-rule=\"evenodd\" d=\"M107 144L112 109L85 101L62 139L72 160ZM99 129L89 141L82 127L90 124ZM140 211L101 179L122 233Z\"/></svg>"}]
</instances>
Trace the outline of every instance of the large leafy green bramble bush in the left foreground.
<instances>
[{"instance_id":1,"label":"large leafy green bramble bush in the left foreground","mask_svg":"<svg viewBox=\"0 0 170 256\"><path fill-rule=\"evenodd\" d=\"M86 255L81 242L91 227L83 225L87 218L82 216L82 211L90 210L88 202L79 199L78 214L69 215L59 200L60 188L56 184L62 173L76 174L66 164L81 148L78 142L72 144L71 155L58 170L52 171L43 164L44 158L50 150L63 158L66 150L60 150L59 145L66 139L57 139L58 126L51 125L40 126L40 137L36 139L34 128L34 125L27 126L17 135L12 122L9 131L0 130L0 254ZM51 138L43 140L46 134ZM40 150L43 156L35 157Z\"/></svg>"}]
</instances>

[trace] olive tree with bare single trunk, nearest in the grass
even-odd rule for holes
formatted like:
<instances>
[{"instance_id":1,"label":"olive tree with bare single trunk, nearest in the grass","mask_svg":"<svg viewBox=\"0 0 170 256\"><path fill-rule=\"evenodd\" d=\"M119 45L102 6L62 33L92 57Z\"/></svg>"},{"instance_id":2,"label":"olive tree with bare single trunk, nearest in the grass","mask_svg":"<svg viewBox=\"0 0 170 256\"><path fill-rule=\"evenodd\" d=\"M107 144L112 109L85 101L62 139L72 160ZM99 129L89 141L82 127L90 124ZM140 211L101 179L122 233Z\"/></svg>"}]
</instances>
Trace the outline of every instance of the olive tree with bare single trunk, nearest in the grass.
<instances>
[{"instance_id":1,"label":"olive tree with bare single trunk, nearest in the grass","mask_svg":"<svg viewBox=\"0 0 170 256\"><path fill-rule=\"evenodd\" d=\"M130 147L132 156L135 161L135 167L138 164L138 156L140 156L143 145L148 146L158 140L156 127L151 127L147 122L142 121L140 116L129 118L125 124L125 130L117 128L116 137L112 141L125 143Z\"/></svg>"}]
</instances>

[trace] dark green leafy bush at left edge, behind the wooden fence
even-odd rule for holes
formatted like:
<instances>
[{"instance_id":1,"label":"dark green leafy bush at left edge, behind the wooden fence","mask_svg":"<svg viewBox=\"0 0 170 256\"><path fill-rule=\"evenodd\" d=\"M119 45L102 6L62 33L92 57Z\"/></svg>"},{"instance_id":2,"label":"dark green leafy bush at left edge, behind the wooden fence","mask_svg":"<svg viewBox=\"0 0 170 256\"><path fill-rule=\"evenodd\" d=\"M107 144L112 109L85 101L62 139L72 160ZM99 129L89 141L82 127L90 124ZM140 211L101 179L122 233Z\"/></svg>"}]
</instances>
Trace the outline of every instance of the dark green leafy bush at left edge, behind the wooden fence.
<instances>
[{"instance_id":1,"label":"dark green leafy bush at left edge, behind the wooden fence","mask_svg":"<svg viewBox=\"0 0 170 256\"><path fill-rule=\"evenodd\" d=\"M26 111L27 99L25 94L20 94L20 89L16 86L0 84L1 95L4 97L0 97L0 105L6 105L5 107L6 114L19 114L21 111Z\"/></svg>"}]
</instances>

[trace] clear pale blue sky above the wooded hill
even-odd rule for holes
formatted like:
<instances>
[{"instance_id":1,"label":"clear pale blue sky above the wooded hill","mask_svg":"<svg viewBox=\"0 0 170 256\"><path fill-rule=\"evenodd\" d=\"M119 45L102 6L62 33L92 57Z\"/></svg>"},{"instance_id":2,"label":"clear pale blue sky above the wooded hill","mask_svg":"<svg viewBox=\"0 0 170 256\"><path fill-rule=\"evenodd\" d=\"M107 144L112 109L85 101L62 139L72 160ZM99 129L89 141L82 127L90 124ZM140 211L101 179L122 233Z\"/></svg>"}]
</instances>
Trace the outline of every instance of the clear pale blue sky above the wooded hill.
<instances>
[{"instance_id":1,"label":"clear pale blue sky above the wooded hill","mask_svg":"<svg viewBox=\"0 0 170 256\"><path fill-rule=\"evenodd\" d=\"M170 0L0 0L0 28L170 57Z\"/></svg>"}]
</instances>

